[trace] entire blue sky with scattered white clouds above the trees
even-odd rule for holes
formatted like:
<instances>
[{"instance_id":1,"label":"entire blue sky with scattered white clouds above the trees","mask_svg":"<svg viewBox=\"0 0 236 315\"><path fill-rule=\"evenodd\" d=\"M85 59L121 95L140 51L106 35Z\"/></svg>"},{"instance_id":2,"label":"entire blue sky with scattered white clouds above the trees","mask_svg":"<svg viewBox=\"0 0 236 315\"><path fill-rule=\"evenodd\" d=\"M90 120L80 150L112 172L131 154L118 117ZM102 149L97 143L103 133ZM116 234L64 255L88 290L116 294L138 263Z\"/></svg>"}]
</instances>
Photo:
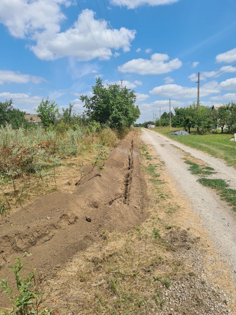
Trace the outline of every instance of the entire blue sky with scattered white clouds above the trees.
<instances>
[{"instance_id":1,"label":"entire blue sky with scattered white clouds above the trees","mask_svg":"<svg viewBox=\"0 0 236 315\"><path fill-rule=\"evenodd\" d=\"M111 31L104 7L107 8ZM0 100L28 113L91 95L100 76L137 92L138 122L197 99L196 82L236 63L235 0L1 0ZM104 31L105 28L105 31ZM118 60L121 65L118 72ZM111 46L107 40L107 37ZM112 54L115 57L112 56ZM111 74L110 74L111 72ZM236 66L200 83L203 105L236 101ZM175 102L176 101L176 102ZM173 102L173 103L172 103Z\"/></svg>"}]
</instances>

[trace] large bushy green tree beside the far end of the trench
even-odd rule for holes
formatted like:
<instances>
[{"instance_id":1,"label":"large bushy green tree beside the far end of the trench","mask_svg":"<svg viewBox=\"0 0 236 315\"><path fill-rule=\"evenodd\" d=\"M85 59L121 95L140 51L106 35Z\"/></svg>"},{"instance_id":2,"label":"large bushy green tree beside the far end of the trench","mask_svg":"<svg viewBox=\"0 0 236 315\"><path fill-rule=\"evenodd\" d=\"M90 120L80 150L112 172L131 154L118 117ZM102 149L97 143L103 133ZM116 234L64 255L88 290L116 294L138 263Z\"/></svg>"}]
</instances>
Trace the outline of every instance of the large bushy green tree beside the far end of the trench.
<instances>
[{"instance_id":1,"label":"large bushy green tree beside the far end of the trench","mask_svg":"<svg viewBox=\"0 0 236 315\"><path fill-rule=\"evenodd\" d=\"M117 84L107 84L104 87L100 78L92 89L92 97L80 97L85 102L87 116L92 120L111 128L129 128L139 118L140 110L138 105L134 105L136 95L133 90L121 89Z\"/></svg>"}]
</instances>

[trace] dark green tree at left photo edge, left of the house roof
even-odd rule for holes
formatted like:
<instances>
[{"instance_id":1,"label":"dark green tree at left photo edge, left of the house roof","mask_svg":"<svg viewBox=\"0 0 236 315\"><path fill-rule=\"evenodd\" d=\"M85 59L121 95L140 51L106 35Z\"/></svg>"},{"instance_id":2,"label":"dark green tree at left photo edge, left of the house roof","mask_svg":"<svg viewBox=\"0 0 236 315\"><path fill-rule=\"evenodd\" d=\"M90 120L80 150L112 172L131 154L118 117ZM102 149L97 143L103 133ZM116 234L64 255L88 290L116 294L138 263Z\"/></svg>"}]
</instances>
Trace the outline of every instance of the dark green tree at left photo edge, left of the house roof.
<instances>
[{"instance_id":1,"label":"dark green tree at left photo edge, left of the house roof","mask_svg":"<svg viewBox=\"0 0 236 315\"><path fill-rule=\"evenodd\" d=\"M27 125L25 112L13 107L12 99L0 102L0 125L11 124L13 129L18 129L22 125Z\"/></svg>"}]
</instances>

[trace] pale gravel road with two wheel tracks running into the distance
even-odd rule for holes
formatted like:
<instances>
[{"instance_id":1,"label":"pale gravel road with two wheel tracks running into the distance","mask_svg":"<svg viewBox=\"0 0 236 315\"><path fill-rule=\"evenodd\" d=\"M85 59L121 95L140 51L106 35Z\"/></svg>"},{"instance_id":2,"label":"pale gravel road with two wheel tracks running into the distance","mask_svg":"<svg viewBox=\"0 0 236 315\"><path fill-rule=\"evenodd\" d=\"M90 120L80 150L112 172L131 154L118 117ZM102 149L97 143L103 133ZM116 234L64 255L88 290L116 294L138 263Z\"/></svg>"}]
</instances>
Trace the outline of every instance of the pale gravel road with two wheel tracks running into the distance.
<instances>
[{"instance_id":1,"label":"pale gravel road with two wheel tracks running into the distance","mask_svg":"<svg viewBox=\"0 0 236 315\"><path fill-rule=\"evenodd\" d=\"M201 159L216 169L217 174L211 175L209 178L227 180L231 188L236 188L236 170L217 158L184 146L155 131L142 129L142 133L143 141L153 145L156 153L169 169L173 181L176 182L179 189L191 201L194 211L199 213L201 223L208 231L212 243L221 258L228 261L231 266L232 276L235 277L236 215L232 211L232 207L223 202L214 191L197 182L199 177L190 173L188 165L182 159L184 157L183 153L174 146L181 148L183 151L190 153L191 156Z\"/></svg>"}]
</instances>

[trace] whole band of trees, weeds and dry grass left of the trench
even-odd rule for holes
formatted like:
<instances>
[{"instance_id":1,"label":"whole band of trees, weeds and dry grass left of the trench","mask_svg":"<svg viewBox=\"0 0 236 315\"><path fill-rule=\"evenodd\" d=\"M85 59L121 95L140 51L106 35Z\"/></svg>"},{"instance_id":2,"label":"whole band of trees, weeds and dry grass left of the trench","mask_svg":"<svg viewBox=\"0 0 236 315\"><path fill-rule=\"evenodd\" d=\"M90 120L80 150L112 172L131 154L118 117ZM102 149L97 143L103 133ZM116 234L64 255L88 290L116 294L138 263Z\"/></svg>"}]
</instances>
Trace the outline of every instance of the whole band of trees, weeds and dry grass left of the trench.
<instances>
[{"instance_id":1,"label":"whole band of trees, weeds and dry grass left of the trench","mask_svg":"<svg viewBox=\"0 0 236 315\"><path fill-rule=\"evenodd\" d=\"M42 99L40 124L28 123L12 100L0 102L0 215L49 192L73 192L88 165L102 169L140 111L134 91L104 87L99 78L92 88L92 97L81 95L81 115L72 104L60 112L55 101Z\"/></svg>"}]
</instances>

